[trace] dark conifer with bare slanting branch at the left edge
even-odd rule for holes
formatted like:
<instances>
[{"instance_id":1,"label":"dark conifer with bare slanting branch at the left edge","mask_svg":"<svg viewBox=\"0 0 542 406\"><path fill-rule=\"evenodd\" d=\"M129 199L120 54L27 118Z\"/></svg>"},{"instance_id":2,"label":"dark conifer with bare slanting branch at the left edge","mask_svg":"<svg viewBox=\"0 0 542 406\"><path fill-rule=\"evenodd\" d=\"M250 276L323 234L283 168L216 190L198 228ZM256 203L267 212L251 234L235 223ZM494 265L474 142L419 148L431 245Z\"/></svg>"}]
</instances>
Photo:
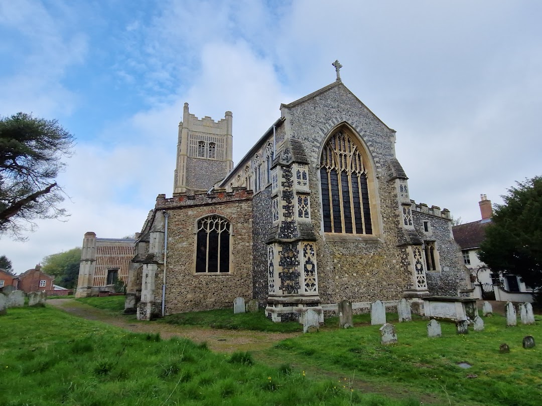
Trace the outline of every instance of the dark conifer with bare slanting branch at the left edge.
<instances>
[{"instance_id":1,"label":"dark conifer with bare slanting branch at the left edge","mask_svg":"<svg viewBox=\"0 0 542 406\"><path fill-rule=\"evenodd\" d=\"M0 235L22 239L23 231L34 230L36 219L67 215L55 178L73 145L73 135L57 120L25 113L0 117Z\"/></svg>"}]
</instances>

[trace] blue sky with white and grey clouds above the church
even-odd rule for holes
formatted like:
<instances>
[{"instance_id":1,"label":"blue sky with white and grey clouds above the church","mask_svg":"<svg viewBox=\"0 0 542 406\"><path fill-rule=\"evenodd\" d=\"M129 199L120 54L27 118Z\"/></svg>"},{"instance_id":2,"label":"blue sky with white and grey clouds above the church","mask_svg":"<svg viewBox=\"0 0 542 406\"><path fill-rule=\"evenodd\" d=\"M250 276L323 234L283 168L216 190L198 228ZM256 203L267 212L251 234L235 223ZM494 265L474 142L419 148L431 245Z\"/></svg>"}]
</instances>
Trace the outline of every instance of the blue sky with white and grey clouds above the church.
<instances>
[{"instance_id":1,"label":"blue sky with white and grey clouds above the church","mask_svg":"<svg viewBox=\"0 0 542 406\"><path fill-rule=\"evenodd\" d=\"M542 2L0 0L0 115L76 137L56 179L70 216L0 238L16 273L138 232L171 197L183 103L233 112L234 163L289 103L341 79L386 125L410 197L480 219L542 175Z\"/></svg>"}]
</instances>

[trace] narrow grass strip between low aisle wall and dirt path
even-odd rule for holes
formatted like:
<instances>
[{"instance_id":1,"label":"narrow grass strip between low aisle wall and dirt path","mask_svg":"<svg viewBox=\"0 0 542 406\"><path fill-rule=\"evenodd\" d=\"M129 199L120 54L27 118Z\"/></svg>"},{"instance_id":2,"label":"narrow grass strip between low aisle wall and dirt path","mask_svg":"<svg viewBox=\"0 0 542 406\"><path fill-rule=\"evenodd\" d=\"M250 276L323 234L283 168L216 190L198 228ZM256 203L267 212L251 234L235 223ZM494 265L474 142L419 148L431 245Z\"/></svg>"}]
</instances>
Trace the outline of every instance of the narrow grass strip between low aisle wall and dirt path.
<instances>
[{"instance_id":1,"label":"narrow grass strip between low aisle wall and dirt path","mask_svg":"<svg viewBox=\"0 0 542 406\"><path fill-rule=\"evenodd\" d=\"M232 309L218 309L201 312L178 313L160 319L161 322L176 325L192 325L227 330L254 330L267 332L303 331L297 322L273 323L263 310L256 313L237 313Z\"/></svg>"}]
</instances>

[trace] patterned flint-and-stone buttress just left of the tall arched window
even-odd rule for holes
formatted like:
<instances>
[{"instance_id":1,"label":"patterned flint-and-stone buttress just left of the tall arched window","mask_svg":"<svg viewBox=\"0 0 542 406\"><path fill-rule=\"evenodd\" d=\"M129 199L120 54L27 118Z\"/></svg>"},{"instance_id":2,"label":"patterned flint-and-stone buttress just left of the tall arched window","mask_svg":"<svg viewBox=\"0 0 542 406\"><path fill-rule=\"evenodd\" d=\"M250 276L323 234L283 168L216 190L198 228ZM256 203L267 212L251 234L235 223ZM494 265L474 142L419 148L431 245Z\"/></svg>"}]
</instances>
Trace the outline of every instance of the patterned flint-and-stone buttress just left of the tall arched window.
<instances>
[{"instance_id":1,"label":"patterned flint-and-stone buttress just left of the tall arched window","mask_svg":"<svg viewBox=\"0 0 542 406\"><path fill-rule=\"evenodd\" d=\"M273 161L271 197L266 315L274 322L302 323L310 308L318 311L320 322L324 322L310 218L308 159L299 140L287 139Z\"/></svg>"}]
</instances>

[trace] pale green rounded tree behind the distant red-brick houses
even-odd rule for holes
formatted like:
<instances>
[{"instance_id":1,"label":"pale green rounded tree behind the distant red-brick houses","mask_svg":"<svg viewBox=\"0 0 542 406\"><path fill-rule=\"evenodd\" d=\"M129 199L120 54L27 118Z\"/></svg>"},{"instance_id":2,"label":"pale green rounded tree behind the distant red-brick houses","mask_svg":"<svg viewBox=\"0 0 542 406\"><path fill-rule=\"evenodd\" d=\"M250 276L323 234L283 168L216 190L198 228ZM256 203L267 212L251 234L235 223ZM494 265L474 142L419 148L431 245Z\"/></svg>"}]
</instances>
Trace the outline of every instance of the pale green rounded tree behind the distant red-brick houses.
<instances>
[{"instance_id":1,"label":"pale green rounded tree behind the distant red-brick houses","mask_svg":"<svg viewBox=\"0 0 542 406\"><path fill-rule=\"evenodd\" d=\"M77 285L81 248L75 247L68 251L48 255L42 260L42 271L55 276L55 284L67 289Z\"/></svg>"}]
</instances>

